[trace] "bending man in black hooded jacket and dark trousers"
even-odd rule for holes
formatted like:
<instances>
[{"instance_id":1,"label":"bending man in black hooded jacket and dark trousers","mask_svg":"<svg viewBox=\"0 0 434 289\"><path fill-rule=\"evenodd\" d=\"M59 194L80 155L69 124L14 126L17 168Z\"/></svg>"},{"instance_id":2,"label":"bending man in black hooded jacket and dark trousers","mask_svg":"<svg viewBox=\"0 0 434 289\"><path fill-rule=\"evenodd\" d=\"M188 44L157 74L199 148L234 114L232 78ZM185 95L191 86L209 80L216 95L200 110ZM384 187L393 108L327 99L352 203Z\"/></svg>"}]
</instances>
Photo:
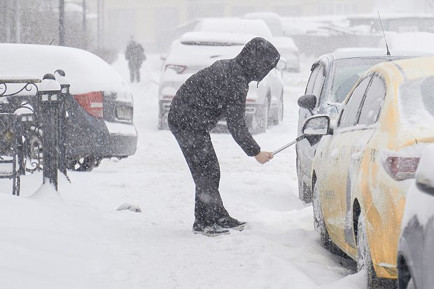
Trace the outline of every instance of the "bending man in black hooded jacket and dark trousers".
<instances>
[{"instance_id":1,"label":"bending man in black hooded jacket and dark trousers","mask_svg":"<svg viewBox=\"0 0 434 289\"><path fill-rule=\"evenodd\" d=\"M234 140L248 156L267 163L273 155L261 151L244 119L248 84L260 82L280 59L276 48L253 38L234 59L214 62L192 75L176 92L168 123L195 181L193 232L204 235L242 230L245 222L232 218L218 192L220 167L209 132L225 118Z\"/></svg>"}]
</instances>

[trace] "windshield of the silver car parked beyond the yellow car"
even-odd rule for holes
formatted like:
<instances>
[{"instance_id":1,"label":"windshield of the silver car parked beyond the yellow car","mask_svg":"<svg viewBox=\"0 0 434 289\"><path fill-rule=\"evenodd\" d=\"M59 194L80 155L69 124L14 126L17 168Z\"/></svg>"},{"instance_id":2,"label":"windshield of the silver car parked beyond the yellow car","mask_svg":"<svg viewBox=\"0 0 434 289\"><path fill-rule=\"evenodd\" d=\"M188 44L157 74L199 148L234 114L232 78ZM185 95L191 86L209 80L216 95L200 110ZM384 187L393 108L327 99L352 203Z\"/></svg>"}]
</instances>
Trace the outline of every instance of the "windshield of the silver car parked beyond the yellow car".
<instances>
[{"instance_id":1,"label":"windshield of the silver car parked beyond the yellow car","mask_svg":"<svg viewBox=\"0 0 434 289\"><path fill-rule=\"evenodd\" d=\"M363 71L380 62L395 60L386 57L360 57L335 61L335 75L330 86L330 101L342 103Z\"/></svg>"}]
</instances>

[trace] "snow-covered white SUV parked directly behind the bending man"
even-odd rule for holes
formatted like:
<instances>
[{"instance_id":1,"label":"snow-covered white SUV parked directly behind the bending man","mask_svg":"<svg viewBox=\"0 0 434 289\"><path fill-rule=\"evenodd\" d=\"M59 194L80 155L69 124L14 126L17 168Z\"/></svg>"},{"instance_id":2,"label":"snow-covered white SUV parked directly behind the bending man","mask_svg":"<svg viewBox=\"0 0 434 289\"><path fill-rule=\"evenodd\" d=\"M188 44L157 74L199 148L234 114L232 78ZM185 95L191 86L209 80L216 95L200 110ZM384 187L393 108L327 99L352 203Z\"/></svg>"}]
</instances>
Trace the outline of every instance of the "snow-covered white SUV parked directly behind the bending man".
<instances>
[{"instance_id":1,"label":"snow-covered white SUV parked directly behind the bending man","mask_svg":"<svg viewBox=\"0 0 434 289\"><path fill-rule=\"evenodd\" d=\"M188 77L215 61L236 57L252 38L272 39L262 20L206 19L198 24L196 30L174 41L165 59L158 89L160 129L167 128L172 98ZM269 124L279 124L282 119L283 79L281 70L274 68L259 85L250 83L246 123L252 133L264 133ZM225 125L223 120L219 124Z\"/></svg>"}]
</instances>

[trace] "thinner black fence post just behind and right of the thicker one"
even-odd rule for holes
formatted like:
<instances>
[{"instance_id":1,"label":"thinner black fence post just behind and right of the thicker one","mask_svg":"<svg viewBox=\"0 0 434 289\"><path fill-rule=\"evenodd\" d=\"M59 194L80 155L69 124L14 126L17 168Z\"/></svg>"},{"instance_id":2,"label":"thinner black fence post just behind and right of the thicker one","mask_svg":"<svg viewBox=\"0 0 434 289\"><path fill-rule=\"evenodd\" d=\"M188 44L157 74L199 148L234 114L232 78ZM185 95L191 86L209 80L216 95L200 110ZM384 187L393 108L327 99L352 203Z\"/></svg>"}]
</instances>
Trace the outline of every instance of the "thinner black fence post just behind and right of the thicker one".
<instances>
[{"instance_id":1,"label":"thinner black fence post just behind and right of the thicker one","mask_svg":"<svg viewBox=\"0 0 434 289\"><path fill-rule=\"evenodd\" d=\"M59 170L66 177L66 101L69 98L69 78L62 69L57 69L54 73L57 82L60 84L60 106L59 106L59 125L58 138L59 138Z\"/></svg>"}]
</instances>

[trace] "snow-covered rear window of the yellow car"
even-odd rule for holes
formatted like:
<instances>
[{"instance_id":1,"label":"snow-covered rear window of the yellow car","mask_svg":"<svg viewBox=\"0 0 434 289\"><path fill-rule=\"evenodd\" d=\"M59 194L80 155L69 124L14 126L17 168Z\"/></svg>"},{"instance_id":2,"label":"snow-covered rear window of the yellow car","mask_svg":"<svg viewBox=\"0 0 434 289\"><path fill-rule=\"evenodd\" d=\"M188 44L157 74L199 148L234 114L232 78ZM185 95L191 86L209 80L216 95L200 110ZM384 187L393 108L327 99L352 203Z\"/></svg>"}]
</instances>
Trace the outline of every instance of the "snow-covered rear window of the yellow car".
<instances>
[{"instance_id":1,"label":"snow-covered rear window of the yellow car","mask_svg":"<svg viewBox=\"0 0 434 289\"><path fill-rule=\"evenodd\" d=\"M434 76L400 85L399 107L402 120L411 126L434 127Z\"/></svg>"}]
</instances>

